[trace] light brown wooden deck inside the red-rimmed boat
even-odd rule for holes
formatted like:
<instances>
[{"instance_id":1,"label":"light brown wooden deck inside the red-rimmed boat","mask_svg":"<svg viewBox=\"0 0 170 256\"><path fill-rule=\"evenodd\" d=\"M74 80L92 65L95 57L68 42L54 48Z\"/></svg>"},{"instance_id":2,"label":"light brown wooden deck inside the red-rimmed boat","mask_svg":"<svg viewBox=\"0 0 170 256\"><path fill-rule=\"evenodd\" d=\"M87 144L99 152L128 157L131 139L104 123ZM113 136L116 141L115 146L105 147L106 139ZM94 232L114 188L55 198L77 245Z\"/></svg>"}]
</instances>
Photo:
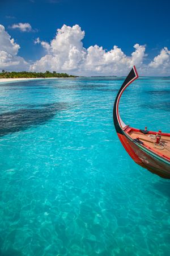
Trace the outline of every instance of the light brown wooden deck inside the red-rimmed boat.
<instances>
[{"instance_id":1,"label":"light brown wooden deck inside the red-rimmed boat","mask_svg":"<svg viewBox=\"0 0 170 256\"><path fill-rule=\"evenodd\" d=\"M162 147L160 147L158 144L154 145L156 139L153 137L154 135L152 134L143 134L140 131L137 132L133 130L131 130L128 134L133 139L139 138L139 140L142 141L144 145L158 152L158 154L162 154L170 159L170 136L162 135L160 139L160 145Z\"/></svg>"}]
</instances>

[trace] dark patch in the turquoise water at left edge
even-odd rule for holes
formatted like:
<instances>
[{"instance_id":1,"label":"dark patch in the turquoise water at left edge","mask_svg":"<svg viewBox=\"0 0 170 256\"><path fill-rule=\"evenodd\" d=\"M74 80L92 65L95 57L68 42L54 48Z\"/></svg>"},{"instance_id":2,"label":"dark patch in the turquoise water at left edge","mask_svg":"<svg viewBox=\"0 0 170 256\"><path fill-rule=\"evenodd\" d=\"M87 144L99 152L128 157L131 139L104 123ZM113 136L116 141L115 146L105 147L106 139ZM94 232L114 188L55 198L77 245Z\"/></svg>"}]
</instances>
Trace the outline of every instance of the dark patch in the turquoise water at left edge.
<instances>
[{"instance_id":1,"label":"dark patch in the turquoise water at left edge","mask_svg":"<svg viewBox=\"0 0 170 256\"><path fill-rule=\"evenodd\" d=\"M70 107L65 102L35 106L36 108L19 109L0 114L0 137L26 130L30 126L42 125L52 119L56 113Z\"/></svg>"}]
</instances>

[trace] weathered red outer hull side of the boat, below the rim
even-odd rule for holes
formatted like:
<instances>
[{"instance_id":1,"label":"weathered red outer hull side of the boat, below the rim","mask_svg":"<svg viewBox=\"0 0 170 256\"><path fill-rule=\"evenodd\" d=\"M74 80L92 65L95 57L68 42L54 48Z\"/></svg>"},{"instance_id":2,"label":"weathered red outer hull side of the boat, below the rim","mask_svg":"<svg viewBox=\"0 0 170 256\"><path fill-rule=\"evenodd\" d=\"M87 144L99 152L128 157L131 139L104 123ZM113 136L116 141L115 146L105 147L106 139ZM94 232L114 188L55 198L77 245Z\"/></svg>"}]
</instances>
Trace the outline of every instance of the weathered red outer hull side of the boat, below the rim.
<instances>
[{"instance_id":1,"label":"weathered red outer hull side of the boat, below the rim","mask_svg":"<svg viewBox=\"0 0 170 256\"><path fill-rule=\"evenodd\" d=\"M119 133L117 135L125 150L135 163L160 177L170 179L170 168L168 163L165 163L158 158L154 158L151 154L141 150L141 148L132 142L126 135Z\"/></svg>"}]
</instances>

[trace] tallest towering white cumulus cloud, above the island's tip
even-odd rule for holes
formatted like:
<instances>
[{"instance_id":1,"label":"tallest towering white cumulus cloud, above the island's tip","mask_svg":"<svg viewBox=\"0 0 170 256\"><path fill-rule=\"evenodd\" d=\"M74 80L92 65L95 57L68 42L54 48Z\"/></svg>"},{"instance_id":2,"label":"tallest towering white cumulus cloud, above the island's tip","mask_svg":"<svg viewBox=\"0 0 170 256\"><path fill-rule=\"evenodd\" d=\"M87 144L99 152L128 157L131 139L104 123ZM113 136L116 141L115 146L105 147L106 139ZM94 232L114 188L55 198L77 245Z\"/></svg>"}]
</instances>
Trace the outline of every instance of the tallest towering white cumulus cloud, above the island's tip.
<instances>
[{"instance_id":1,"label":"tallest towering white cumulus cloud, above the island's tip","mask_svg":"<svg viewBox=\"0 0 170 256\"><path fill-rule=\"evenodd\" d=\"M58 72L74 71L79 69L87 50L83 48L82 39L84 31L78 25L69 27L63 25L57 30L56 38L50 44L40 42L38 38L36 43L46 49L47 54L31 66L31 70L46 71L55 70Z\"/></svg>"}]
</instances>

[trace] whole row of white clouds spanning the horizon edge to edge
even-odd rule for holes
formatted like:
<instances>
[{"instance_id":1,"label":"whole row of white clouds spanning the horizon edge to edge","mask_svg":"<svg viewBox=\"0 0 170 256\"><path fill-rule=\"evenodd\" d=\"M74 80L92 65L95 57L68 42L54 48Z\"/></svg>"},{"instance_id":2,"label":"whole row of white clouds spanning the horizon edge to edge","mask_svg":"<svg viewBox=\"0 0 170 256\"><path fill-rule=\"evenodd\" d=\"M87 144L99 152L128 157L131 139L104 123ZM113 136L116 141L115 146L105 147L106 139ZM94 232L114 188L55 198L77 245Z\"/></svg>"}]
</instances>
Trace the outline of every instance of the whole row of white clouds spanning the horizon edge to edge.
<instances>
[{"instance_id":1,"label":"whole row of white clouds spanning the horizon edge to edge","mask_svg":"<svg viewBox=\"0 0 170 256\"><path fill-rule=\"evenodd\" d=\"M41 44L44 48L44 56L35 63L29 64L29 70L36 72L49 70L85 76L126 75L130 68L136 65L139 75L170 75L170 51L167 47L147 63L145 45L135 44L134 51L127 56L117 46L113 46L110 51L97 45L85 48L82 43L84 36L85 32L76 24L73 27L63 25L50 42L37 38L35 44ZM18 61L18 65L22 61L27 64L18 56L20 46L14 43L14 39L10 38L3 26L0 27L0 43L0 52L2 52L0 54L3 55L0 69L5 67L5 63L6 67L10 67L10 61L12 67L15 66L15 61Z\"/></svg>"}]
</instances>

